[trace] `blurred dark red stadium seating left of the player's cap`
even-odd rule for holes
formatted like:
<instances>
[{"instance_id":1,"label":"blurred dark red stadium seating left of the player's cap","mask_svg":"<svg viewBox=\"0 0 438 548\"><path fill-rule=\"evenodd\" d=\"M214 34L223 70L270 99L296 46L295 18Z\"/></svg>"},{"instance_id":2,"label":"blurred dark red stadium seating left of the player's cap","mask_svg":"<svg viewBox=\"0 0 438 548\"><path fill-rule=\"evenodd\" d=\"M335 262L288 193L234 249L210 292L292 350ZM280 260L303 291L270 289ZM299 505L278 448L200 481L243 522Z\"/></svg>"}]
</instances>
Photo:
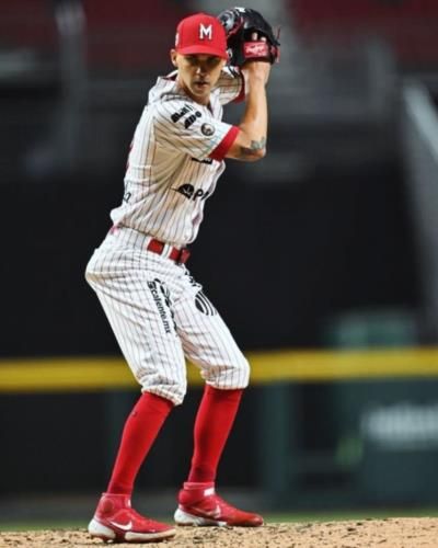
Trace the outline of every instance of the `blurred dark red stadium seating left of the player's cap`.
<instances>
[{"instance_id":1,"label":"blurred dark red stadium seating left of the player's cap","mask_svg":"<svg viewBox=\"0 0 438 548\"><path fill-rule=\"evenodd\" d=\"M57 54L56 7L74 1L14 0L2 8L0 50L31 49ZM91 71L155 69L168 62L174 27L186 13L184 2L127 3L84 0L85 42Z\"/></svg>"}]
</instances>

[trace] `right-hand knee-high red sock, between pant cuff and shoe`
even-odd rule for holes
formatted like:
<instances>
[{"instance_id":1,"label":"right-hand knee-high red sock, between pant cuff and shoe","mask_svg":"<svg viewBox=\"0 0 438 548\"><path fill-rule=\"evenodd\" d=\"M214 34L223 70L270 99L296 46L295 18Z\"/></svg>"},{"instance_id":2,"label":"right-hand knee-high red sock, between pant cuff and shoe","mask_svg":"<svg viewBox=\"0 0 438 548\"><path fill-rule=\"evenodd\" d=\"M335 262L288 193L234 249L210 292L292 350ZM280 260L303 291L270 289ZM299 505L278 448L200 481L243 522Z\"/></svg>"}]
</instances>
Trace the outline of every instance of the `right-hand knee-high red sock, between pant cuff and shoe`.
<instances>
[{"instance_id":1,"label":"right-hand knee-high red sock, between pant cuff and shoe","mask_svg":"<svg viewBox=\"0 0 438 548\"><path fill-rule=\"evenodd\" d=\"M243 389L218 390L206 385L194 430L189 482L215 481L219 459L234 422Z\"/></svg>"}]
</instances>

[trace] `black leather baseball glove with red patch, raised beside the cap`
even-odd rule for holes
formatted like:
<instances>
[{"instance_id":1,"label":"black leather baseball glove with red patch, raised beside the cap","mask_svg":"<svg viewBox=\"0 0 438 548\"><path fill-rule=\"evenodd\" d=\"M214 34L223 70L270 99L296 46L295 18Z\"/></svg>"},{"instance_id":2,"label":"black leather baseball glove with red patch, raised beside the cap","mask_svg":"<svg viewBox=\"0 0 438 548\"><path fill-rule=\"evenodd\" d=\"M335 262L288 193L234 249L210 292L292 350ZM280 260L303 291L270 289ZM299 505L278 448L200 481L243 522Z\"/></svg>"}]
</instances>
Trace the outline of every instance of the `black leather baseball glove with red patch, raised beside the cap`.
<instances>
[{"instance_id":1,"label":"black leather baseball glove with red patch, raised beside the cap","mask_svg":"<svg viewBox=\"0 0 438 548\"><path fill-rule=\"evenodd\" d=\"M227 33L229 65L241 67L247 60L278 62L280 43L273 27L258 11L230 8L218 15ZM253 33L257 39L253 41ZM262 39L264 38L264 39Z\"/></svg>"}]
</instances>

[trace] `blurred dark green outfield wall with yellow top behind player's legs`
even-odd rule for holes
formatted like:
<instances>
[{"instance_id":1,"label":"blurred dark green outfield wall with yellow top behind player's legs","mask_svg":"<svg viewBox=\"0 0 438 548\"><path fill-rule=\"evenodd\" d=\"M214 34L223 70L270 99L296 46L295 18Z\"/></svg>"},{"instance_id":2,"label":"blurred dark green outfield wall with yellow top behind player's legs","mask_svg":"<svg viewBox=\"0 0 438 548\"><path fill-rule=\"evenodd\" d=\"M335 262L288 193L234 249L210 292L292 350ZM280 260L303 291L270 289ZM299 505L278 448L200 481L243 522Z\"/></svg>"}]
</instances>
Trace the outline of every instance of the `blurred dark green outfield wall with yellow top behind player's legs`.
<instances>
[{"instance_id":1,"label":"blurred dark green outfield wall with yellow top behind player's legs","mask_svg":"<svg viewBox=\"0 0 438 548\"><path fill-rule=\"evenodd\" d=\"M272 509L438 502L438 349L249 353L252 385L219 471ZM139 490L188 468L201 379L171 414ZM0 362L2 493L104 489L138 397L119 357Z\"/></svg>"}]
</instances>

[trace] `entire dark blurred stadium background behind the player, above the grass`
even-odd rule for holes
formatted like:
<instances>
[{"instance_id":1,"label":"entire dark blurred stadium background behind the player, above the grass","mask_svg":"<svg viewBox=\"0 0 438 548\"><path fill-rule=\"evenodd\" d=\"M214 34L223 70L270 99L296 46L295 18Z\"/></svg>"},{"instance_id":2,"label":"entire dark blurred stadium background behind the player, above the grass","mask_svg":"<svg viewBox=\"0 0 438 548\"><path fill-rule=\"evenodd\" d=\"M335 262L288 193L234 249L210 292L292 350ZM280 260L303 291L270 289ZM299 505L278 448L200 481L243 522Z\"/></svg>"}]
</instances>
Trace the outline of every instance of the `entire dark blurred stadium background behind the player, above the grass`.
<instances>
[{"instance_id":1,"label":"entire dark blurred stadium background behind the player, above the grass","mask_svg":"<svg viewBox=\"0 0 438 548\"><path fill-rule=\"evenodd\" d=\"M219 481L263 510L436 505L438 7L272 4L251 4L283 27L269 155L228 162L191 259L254 363ZM175 23L227 7L1 8L0 522L87 520L105 487L138 392L83 270ZM160 512L191 378L138 481Z\"/></svg>"}]
</instances>

